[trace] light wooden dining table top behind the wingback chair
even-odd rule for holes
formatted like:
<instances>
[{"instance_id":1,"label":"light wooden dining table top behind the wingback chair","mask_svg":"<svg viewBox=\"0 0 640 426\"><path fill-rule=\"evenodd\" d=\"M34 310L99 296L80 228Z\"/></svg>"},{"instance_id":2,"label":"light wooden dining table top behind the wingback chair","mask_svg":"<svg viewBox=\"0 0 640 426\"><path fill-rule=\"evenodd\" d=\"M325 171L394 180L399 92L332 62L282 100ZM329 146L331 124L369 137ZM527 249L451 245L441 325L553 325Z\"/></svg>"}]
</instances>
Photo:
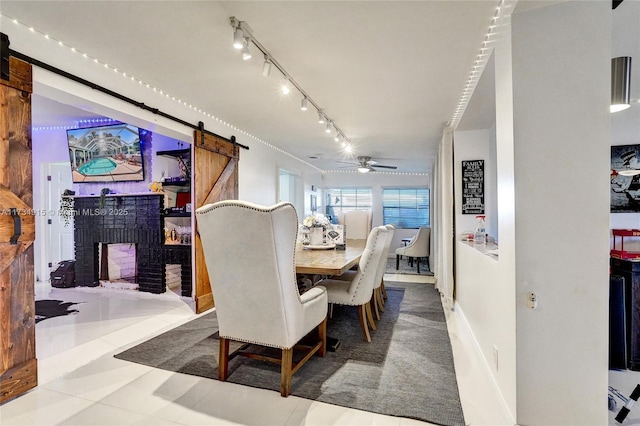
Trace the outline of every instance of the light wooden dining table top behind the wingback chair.
<instances>
[{"instance_id":1,"label":"light wooden dining table top behind the wingback chair","mask_svg":"<svg viewBox=\"0 0 640 426\"><path fill-rule=\"evenodd\" d=\"M296 272L299 274L342 275L360 261L367 240L347 240L345 250L312 250L296 246Z\"/></svg>"}]
</instances>

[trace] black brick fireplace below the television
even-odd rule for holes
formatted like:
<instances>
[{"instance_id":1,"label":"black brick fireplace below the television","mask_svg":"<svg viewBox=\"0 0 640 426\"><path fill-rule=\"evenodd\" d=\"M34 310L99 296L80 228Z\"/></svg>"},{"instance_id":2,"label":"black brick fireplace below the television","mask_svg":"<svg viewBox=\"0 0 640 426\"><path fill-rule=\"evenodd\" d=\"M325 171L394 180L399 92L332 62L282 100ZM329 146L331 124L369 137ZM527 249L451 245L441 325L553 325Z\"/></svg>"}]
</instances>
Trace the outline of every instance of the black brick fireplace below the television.
<instances>
[{"instance_id":1,"label":"black brick fireplace below the television","mask_svg":"<svg viewBox=\"0 0 640 426\"><path fill-rule=\"evenodd\" d=\"M79 196L74 198L74 209L76 285L100 285L100 243L128 243L136 244L139 290L150 293L166 291L162 194L109 194L102 203L100 196ZM189 263L189 286L190 266ZM182 292L185 293L184 286Z\"/></svg>"}]
</instances>

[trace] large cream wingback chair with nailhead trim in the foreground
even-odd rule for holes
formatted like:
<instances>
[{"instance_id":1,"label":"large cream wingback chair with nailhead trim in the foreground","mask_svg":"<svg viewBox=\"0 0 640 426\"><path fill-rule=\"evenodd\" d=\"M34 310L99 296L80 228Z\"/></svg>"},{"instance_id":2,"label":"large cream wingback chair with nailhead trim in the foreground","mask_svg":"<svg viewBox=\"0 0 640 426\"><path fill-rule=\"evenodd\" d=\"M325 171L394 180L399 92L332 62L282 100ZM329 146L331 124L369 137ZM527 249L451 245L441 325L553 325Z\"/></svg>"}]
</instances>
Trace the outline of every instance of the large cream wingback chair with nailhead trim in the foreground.
<instances>
[{"instance_id":1,"label":"large cream wingback chair with nailhead trim in the foreground","mask_svg":"<svg viewBox=\"0 0 640 426\"><path fill-rule=\"evenodd\" d=\"M196 220L219 324L218 379L229 376L229 341L279 348L280 358L247 348L236 354L279 363L280 394L288 396L291 376L327 346L327 291L316 286L299 294L296 284L293 205L221 201L198 208ZM316 328L318 339L299 344ZM306 351L298 363L294 347Z\"/></svg>"}]
</instances>

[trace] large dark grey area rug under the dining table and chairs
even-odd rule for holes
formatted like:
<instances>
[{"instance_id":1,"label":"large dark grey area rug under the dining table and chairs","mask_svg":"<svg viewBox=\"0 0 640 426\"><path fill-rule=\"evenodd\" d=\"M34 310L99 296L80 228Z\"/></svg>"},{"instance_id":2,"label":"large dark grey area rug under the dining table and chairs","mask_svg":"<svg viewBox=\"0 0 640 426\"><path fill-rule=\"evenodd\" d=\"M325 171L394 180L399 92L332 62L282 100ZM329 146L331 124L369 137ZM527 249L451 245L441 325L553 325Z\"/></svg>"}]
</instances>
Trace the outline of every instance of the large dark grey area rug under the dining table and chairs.
<instances>
[{"instance_id":1,"label":"large dark grey area rug under the dining table and chairs","mask_svg":"<svg viewBox=\"0 0 640 426\"><path fill-rule=\"evenodd\" d=\"M355 307L334 307L327 335L339 339L340 345L294 374L292 395L435 424L464 425L439 293L430 284L387 282L386 288L385 311L371 343L364 341ZM203 315L115 356L216 379L216 314ZM235 357L229 372L230 382L280 391L278 365Z\"/></svg>"}]
</instances>

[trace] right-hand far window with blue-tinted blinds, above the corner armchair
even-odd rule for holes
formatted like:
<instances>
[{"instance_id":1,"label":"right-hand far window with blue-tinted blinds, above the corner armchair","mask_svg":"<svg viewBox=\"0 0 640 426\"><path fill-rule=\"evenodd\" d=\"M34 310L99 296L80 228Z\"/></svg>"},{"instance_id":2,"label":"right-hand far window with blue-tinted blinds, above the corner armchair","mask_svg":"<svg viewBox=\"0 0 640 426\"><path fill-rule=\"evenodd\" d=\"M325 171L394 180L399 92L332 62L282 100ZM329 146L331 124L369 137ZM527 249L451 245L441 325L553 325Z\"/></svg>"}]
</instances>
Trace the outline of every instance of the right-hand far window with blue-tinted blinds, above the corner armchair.
<instances>
[{"instance_id":1,"label":"right-hand far window with blue-tinted blinds, above the corner armchair","mask_svg":"<svg viewBox=\"0 0 640 426\"><path fill-rule=\"evenodd\" d=\"M396 228L429 226L428 188L385 188L382 190L382 220Z\"/></svg>"}]
</instances>

